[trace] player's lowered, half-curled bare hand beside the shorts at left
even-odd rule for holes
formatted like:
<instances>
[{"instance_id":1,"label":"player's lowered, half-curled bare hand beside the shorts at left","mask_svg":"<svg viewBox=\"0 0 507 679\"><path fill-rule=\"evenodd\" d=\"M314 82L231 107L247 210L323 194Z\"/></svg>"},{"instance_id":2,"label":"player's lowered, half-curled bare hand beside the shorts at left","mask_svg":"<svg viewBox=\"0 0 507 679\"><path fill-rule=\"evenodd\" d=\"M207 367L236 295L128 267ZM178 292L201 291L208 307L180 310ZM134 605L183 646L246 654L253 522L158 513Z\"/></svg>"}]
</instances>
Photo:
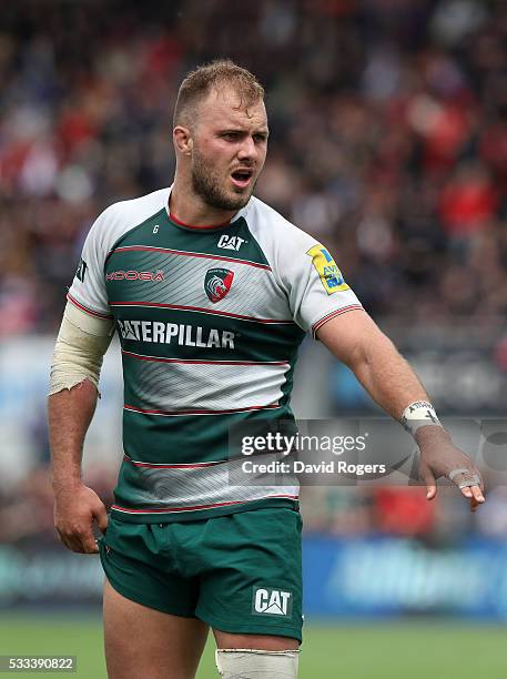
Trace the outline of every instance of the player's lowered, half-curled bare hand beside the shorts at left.
<instances>
[{"instance_id":1,"label":"player's lowered, half-curled bare hand beside the shorts at left","mask_svg":"<svg viewBox=\"0 0 507 679\"><path fill-rule=\"evenodd\" d=\"M80 554L97 554L93 521L105 534L108 513L94 490L83 484L65 487L54 494L54 527L61 541Z\"/></svg>"}]
</instances>

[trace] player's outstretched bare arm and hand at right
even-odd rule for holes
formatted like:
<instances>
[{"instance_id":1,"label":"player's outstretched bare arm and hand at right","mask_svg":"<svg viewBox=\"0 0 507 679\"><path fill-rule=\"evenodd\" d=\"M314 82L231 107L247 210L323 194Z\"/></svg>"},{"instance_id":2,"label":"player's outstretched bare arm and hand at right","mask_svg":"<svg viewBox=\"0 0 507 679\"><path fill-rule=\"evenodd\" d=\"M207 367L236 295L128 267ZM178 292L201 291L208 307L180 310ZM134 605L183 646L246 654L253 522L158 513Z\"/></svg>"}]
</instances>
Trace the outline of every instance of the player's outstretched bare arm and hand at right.
<instances>
[{"instance_id":1,"label":"player's outstretched bare arm and hand at right","mask_svg":"<svg viewBox=\"0 0 507 679\"><path fill-rule=\"evenodd\" d=\"M345 363L372 398L393 418L400 419L405 408L428 396L408 363L394 344L362 311L351 311L325 323L318 338ZM422 426L415 434L420 450L419 475L426 484L427 498L436 495L436 478L448 476L455 469L467 469L455 480L473 478L478 469L468 456L456 448L443 427ZM470 500L474 511L484 503L481 485L465 486L462 494Z\"/></svg>"}]
</instances>

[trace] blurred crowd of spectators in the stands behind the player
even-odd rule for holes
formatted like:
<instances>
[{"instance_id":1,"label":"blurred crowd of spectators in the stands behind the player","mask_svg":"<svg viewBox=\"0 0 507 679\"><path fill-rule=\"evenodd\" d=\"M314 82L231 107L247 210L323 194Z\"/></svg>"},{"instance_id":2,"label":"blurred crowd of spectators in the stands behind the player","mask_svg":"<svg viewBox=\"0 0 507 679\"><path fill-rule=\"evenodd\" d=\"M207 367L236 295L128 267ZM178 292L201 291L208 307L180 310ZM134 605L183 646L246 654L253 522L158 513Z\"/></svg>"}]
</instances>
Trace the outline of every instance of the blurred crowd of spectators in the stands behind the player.
<instances>
[{"instance_id":1,"label":"blurred crowd of spectators in the stands behind the player","mask_svg":"<svg viewBox=\"0 0 507 679\"><path fill-rule=\"evenodd\" d=\"M91 223L171 183L179 83L217 57L267 91L257 195L335 253L374 316L501 323L506 2L19 0L0 18L0 337L55 333ZM305 495L310 526L336 534L475 520L454 496L440 520L418 489ZM52 539L51 513L41 462L1 496L0 541L19 539L14 515Z\"/></svg>"}]
</instances>

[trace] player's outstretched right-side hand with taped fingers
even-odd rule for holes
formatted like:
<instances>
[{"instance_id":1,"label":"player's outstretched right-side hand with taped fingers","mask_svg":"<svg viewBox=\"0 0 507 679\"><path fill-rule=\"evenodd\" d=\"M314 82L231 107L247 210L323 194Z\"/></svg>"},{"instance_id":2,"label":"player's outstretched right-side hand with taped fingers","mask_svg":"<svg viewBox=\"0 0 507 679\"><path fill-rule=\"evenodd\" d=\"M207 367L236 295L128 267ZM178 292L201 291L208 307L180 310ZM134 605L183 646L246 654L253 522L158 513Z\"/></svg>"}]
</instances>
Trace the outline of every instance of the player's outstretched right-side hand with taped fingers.
<instances>
[{"instance_id":1,"label":"player's outstretched right-side hand with taped fingers","mask_svg":"<svg viewBox=\"0 0 507 679\"><path fill-rule=\"evenodd\" d=\"M446 476L469 500L470 511L476 511L485 501L484 483L480 472L468 455L453 444L448 432L443 427L419 427L415 439L420 450L419 478L426 484L426 499L430 500L436 496L436 479Z\"/></svg>"}]
</instances>

